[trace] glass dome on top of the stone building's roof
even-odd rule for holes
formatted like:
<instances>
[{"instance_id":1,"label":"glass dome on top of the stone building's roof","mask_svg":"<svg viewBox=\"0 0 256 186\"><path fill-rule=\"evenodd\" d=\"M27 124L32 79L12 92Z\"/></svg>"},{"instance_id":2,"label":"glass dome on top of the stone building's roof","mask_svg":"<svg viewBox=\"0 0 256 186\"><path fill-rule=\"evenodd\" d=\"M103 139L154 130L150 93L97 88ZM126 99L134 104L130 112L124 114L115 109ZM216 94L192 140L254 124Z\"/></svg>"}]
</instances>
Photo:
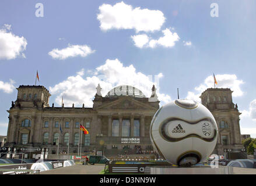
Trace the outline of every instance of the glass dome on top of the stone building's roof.
<instances>
[{"instance_id":1,"label":"glass dome on top of the stone building's roof","mask_svg":"<svg viewBox=\"0 0 256 186\"><path fill-rule=\"evenodd\" d=\"M145 98L146 96L142 93L141 90L138 88L129 86L129 85L121 85L118 87L113 88L109 92L107 92L107 95L105 97L111 98L111 97L117 97L117 96L133 96L135 98Z\"/></svg>"}]
</instances>

